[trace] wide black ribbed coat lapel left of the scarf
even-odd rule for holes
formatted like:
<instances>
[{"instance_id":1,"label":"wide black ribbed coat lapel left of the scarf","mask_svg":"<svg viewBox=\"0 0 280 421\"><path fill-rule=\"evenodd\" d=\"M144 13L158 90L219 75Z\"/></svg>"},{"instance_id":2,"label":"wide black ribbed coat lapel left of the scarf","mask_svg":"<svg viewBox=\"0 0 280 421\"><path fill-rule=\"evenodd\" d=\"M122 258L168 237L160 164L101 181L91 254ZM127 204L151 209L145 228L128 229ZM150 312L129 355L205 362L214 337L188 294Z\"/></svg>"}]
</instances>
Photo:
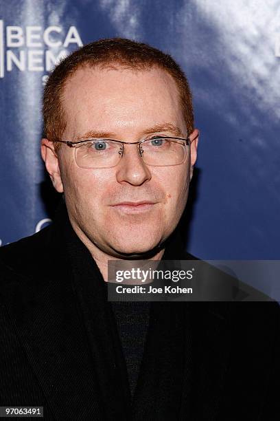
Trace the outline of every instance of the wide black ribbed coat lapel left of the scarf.
<instances>
[{"instance_id":1,"label":"wide black ribbed coat lapel left of the scarf","mask_svg":"<svg viewBox=\"0 0 280 421\"><path fill-rule=\"evenodd\" d=\"M45 273L37 277L15 277L13 272L5 277L8 311L54 418L84 420L94 414L102 420L70 276L52 263L46 261Z\"/></svg>"}]
</instances>

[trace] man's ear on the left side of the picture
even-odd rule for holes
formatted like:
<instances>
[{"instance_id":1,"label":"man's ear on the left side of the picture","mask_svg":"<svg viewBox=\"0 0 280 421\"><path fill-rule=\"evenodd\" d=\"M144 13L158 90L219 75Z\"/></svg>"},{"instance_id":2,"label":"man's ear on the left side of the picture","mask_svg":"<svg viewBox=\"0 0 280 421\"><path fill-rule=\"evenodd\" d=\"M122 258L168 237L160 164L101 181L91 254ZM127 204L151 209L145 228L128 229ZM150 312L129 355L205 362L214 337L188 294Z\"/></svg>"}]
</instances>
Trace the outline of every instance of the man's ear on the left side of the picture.
<instances>
[{"instance_id":1,"label":"man's ear on the left side of the picture","mask_svg":"<svg viewBox=\"0 0 280 421\"><path fill-rule=\"evenodd\" d=\"M54 150L54 142L47 139L41 140L41 155L51 182L58 193L63 193L63 184L60 177L60 169L58 164L58 155Z\"/></svg>"}]
</instances>

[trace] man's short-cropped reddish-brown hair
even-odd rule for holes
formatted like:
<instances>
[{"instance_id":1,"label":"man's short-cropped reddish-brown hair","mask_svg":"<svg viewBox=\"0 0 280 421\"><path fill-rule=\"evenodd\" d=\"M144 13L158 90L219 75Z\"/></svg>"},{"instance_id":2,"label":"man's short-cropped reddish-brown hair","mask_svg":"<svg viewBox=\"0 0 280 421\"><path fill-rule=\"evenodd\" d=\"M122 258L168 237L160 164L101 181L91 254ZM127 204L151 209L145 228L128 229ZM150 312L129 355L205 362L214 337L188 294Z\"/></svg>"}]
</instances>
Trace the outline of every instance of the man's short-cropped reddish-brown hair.
<instances>
[{"instance_id":1,"label":"man's short-cropped reddish-brown hair","mask_svg":"<svg viewBox=\"0 0 280 421\"><path fill-rule=\"evenodd\" d=\"M51 72L43 96L45 138L53 142L61 140L66 128L61 101L65 82L78 68L84 65L98 66L100 69L121 66L139 71L149 69L151 66L160 67L172 76L178 87L188 133L194 130L194 112L189 83L183 70L174 59L169 54L150 47L148 44L130 39L113 38L101 39L84 45L64 58Z\"/></svg>"}]
</instances>

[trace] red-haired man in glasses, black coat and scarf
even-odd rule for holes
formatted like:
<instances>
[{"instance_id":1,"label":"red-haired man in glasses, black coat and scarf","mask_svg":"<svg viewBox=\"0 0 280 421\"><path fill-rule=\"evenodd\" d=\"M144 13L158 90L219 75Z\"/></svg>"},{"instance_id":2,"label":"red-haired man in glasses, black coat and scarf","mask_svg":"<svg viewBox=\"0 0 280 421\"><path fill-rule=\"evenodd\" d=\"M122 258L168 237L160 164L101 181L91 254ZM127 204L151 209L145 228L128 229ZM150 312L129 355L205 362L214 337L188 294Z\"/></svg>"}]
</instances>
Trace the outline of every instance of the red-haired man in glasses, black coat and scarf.
<instances>
[{"instance_id":1,"label":"red-haired man in glasses, black coat and scarf","mask_svg":"<svg viewBox=\"0 0 280 421\"><path fill-rule=\"evenodd\" d=\"M109 303L110 259L191 259L178 239L198 146L174 60L82 47L45 87L54 224L1 248L2 406L47 420L278 419L276 303Z\"/></svg>"}]
</instances>

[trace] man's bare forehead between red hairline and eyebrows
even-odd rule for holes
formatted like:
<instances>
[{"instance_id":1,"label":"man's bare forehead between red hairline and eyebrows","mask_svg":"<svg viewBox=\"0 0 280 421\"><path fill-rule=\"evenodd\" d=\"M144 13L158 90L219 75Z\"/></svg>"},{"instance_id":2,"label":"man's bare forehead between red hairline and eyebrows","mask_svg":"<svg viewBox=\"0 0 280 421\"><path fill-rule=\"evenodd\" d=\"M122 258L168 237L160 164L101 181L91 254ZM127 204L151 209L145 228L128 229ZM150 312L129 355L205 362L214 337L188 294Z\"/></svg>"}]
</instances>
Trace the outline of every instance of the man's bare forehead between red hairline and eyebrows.
<instances>
[{"instance_id":1,"label":"man's bare forehead between red hairline and eyebrows","mask_svg":"<svg viewBox=\"0 0 280 421\"><path fill-rule=\"evenodd\" d=\"M62 106L69 136L91 129L117 133L166 122L184 125L176 83L158 67L82 67L67 80Z\"/></svg>"}]
</instances>

